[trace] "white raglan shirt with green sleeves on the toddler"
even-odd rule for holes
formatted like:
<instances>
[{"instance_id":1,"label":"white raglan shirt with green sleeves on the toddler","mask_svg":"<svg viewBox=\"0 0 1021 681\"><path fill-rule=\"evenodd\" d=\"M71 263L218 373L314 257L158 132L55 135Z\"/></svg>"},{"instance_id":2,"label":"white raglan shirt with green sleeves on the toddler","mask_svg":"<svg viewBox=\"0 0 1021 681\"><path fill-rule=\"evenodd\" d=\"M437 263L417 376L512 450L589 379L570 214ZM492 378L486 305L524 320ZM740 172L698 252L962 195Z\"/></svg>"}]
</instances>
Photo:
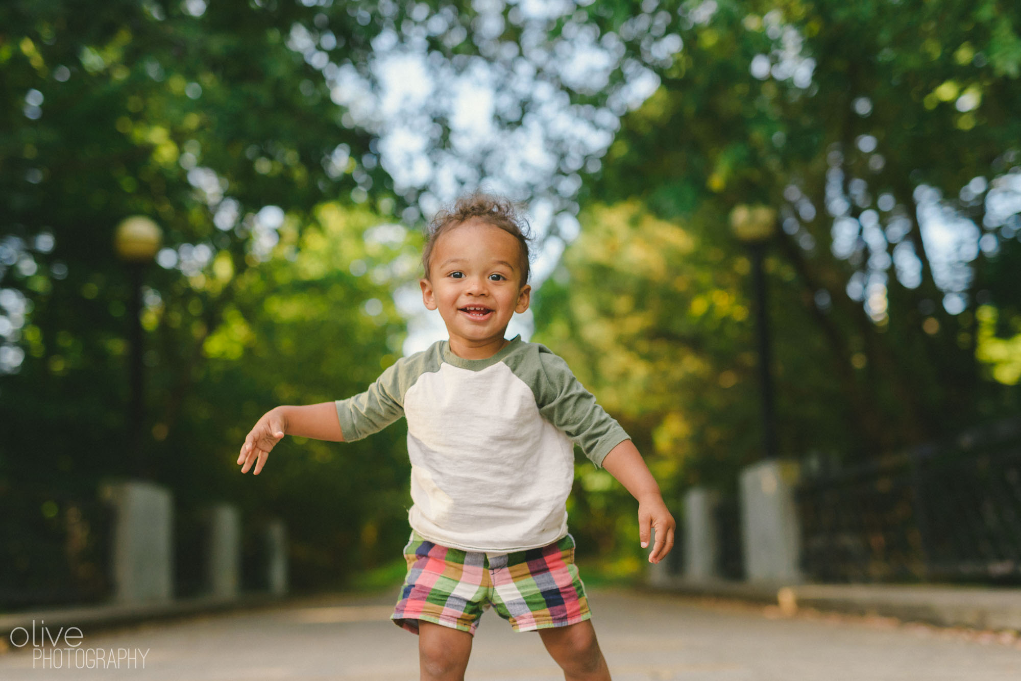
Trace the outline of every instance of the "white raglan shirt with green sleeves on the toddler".
<instances>
[{"instance_id":1,"label":"white raglan shirt with green sleeves on the toddler","mask_svg":"<svg viewBox=\"0 0 1021 681\"><path fill-rule=\"evenodd\" d=\"M348 441L407 419L408 522L463 551L509 553L562 538L574 444L601 467L629 438L563 359L521 336L482 360L435 343L336 406Z\"/></svg>"}]
</instances>

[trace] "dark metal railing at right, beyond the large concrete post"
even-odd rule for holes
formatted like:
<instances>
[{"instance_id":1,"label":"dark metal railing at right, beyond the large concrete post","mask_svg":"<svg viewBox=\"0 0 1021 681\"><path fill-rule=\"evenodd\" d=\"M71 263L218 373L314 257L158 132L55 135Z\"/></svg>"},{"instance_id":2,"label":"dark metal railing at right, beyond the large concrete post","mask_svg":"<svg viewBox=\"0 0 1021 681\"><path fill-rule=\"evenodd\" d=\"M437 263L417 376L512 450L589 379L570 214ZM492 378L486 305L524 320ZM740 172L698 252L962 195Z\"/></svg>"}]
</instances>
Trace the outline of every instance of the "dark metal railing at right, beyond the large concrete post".
<instances>
[{"instance_id":1,"label":"dark metal railing at right, beyond the large concrete post","mask_svg":"<svg viewBox=\"0 0 1021 681\"><path fill-rule=\"evenodd\" d=\"M806 470L797 502L810 579L1021 582L1021 420Z\"/></svg>"}]
</instances>

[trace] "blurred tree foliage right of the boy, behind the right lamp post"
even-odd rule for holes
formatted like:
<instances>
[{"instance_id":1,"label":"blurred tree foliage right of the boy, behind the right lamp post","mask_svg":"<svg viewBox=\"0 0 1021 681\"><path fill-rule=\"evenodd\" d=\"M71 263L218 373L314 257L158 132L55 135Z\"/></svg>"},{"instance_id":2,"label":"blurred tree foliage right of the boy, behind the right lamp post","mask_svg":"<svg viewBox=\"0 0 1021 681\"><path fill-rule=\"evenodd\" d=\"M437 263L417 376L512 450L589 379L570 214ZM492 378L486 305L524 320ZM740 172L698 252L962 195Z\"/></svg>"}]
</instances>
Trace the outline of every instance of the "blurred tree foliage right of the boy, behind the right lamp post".
<instances>
[{"instance_id":1,"label":"blurred tree foliage right of the boy, behind the right lamp post","mask_svg":"<svg viewBox=\"0 0 1021 681\"><path fill-rule=\"evenodd\" d=\"M586 179L538 337L683 479L732 477L761 449L728 223L766 204L783 454L879 456L1016 410L1017 9L661 3L600 30L633 35L663 9L677 14L658 35L683 48ZM638 35L635 58L655 40Z\"/></svg>"}]
</instances>

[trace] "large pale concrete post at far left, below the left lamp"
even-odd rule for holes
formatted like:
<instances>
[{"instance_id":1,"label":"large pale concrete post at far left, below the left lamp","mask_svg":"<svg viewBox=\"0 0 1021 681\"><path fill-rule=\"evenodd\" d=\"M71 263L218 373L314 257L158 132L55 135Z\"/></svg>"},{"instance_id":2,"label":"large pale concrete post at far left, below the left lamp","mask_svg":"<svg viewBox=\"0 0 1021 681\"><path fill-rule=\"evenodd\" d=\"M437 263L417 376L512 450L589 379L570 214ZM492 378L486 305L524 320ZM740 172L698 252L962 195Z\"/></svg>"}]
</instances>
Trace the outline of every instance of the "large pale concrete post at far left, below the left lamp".
<instances>
[{"instance_id":1,"label":"large pale concrete post at far left, below the left lamp","mask_svg":"<svg viewBox=\"0 0 1021 681\"><path fill-rule=\"evenodd\" d=\"M143 480L111 482L100 497L113 507L113 600L166 603L174 596L174 503Z\"/></svg>"}]
</instances>

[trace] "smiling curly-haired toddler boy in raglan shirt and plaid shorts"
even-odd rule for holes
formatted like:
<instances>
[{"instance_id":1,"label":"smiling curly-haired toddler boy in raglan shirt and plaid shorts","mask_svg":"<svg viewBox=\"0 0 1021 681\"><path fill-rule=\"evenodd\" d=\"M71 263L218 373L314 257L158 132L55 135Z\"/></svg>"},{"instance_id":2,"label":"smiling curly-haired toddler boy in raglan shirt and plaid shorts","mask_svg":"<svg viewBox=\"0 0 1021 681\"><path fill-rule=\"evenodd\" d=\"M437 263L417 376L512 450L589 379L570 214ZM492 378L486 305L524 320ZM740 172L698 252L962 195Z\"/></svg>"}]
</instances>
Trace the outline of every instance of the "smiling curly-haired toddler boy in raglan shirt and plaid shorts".
<instances>
[{"instance_id":1,"label":"smiling curly-haired toddler boy in raglan shirt and plaid shorts","mask_svg":"<svg viewBox=\"0 0 1021 681\"><path fill-rule=\"evenodd\" d=\"M609 679L574 564L566 502L574 444L638 501L639 539L659 563L674 519L628 434L541 345L503 337L528 309L528 234L509 202L458 201L432 222L423 302L449 337L397 360L347 400L268 412L241 448L258 474L284 434L354 440L403 416L411 462L408 571L393 621L419 634L422 679L463 679L492 607L538 631L567 679Z\"/></svg>"}]
</instances>

